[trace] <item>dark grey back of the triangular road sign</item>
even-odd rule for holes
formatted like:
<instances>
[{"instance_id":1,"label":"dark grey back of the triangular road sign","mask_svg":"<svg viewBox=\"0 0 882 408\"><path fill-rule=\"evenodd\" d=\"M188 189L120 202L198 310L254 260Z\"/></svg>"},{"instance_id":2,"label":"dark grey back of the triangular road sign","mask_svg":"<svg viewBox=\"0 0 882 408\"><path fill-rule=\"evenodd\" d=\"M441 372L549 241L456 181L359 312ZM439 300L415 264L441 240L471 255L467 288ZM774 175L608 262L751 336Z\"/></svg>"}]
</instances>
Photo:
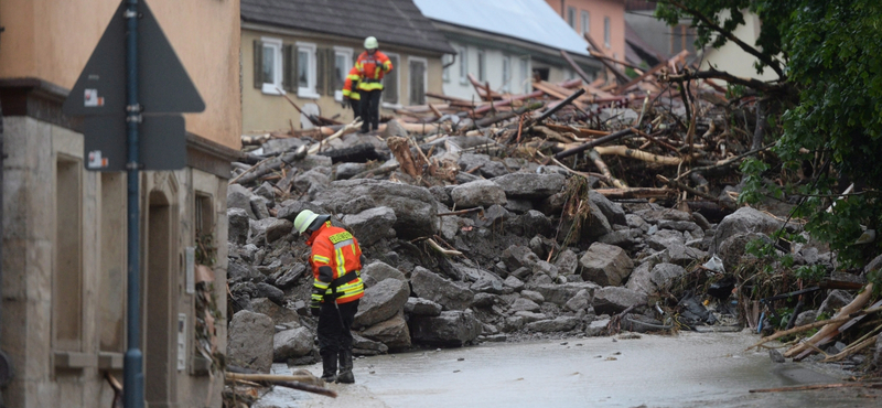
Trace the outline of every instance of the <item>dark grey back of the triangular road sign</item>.
<instances>
[{"instance_id":1,"label":"dark grey back of the triangular road sign","mask_svg":"<svg viewBox=\"0 0 882 408\"><path fill-rule=\"evenodd\" d=\"M126 111L126 9L123 0L65 100L65 115ZM146 114L205 110L205 103L146 0L140 1L138 21L138 101Z\"/></svg>"}]
</instances>

